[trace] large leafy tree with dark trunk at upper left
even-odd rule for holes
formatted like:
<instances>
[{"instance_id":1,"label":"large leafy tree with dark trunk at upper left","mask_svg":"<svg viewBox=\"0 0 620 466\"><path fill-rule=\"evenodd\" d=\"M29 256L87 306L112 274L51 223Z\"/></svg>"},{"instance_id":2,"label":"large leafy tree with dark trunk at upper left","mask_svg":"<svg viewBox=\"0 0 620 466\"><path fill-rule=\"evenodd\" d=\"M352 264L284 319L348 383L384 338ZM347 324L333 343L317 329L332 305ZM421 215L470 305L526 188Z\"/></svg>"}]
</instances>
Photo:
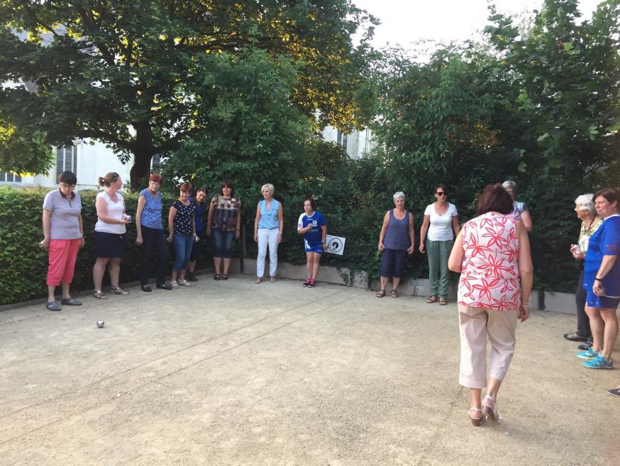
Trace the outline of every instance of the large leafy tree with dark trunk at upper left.
<instances>
[{"instance_id":1,"label":"large leafy tree with dark trunk at upper left","mask_svg":"<svg viewBox=\"0 0 620 466\"><path fill-rule=\"evenodd\" d=\"M374 18L350 0L0 0L0 116L43 131L48 143L79 138L133 156L131 185L162 156L209 125L201 97L213 82L211 56L233 60L264 50L294 65L289 98L319 123L362 123L355 104ZM354 48L350 36L362 28ZM25 38L18 38L21 33Z\"/></svg>"}]
</instances>

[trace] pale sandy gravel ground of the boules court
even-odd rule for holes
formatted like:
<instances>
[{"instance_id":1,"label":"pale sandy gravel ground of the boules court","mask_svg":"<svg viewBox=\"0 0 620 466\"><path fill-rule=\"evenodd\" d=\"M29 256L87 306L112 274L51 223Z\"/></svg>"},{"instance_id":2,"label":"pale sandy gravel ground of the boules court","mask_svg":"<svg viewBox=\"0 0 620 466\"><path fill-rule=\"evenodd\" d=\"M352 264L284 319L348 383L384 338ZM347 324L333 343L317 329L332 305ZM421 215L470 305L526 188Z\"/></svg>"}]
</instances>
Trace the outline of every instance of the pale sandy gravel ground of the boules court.
<instances>
[{"instance_id":1,"label":"pale sandy gravel ground of the boules court","mask_svg":"<svg viewBox=\"0 0 620 466\"><path fill-rule=\"evenodd\" d=\"M582 367L574 316L519 324L474 428L453 303L200 278L0 313L0 464L620 464L620 372Z\"/></svg>"}]
</instances>

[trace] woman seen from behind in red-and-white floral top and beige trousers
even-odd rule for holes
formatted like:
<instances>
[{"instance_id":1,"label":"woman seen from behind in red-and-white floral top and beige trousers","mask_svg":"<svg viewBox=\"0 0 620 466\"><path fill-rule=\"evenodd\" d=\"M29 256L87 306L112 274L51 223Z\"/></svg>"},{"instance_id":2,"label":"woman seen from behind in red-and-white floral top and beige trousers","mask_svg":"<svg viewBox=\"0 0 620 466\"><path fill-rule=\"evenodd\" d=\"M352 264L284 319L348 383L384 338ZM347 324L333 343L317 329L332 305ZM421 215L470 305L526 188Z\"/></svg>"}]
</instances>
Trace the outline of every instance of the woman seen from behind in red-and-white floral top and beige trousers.
<instances>
[{"instance_id":1,"label":"woman seen from behind in red-and-white floral top and beige trousers","mask_svg":"<svg viewBox=\"0 0 620 466\"><path fill-rule=\"evenodd\" d=\"M470 389L469 416L480 426L482 416L499 421L497 391L514 354L517 319L528 318L532 259L528 234L509 218L512 198L502 185L488 185L477 205L478 217L465 223L448 260L460 272L459 383ZM487 338L491 343L487 396Z\"/></svg>"}]
</instances>

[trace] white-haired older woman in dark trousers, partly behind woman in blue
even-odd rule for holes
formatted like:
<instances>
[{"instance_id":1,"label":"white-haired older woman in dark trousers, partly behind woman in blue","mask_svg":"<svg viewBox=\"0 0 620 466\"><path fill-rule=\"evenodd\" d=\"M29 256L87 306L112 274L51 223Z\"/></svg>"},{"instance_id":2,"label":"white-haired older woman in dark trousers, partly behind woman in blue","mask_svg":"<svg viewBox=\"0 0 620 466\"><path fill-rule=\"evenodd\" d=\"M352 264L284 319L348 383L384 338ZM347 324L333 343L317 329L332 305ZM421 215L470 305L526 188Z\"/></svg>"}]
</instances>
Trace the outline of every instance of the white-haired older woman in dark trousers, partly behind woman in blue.
<instances>
[{"instance_id":1,"label":"white-haired older woman in dark trousers, partly behind woman in blue","mask_svg":"<svg viewBox=\"0 0 620 466\"><path fill-rule=\"evenodd\" d=\"M592 346L592 330L590 330L589 318L585 313L586 291L583 288L583 266L589 239L599 229L603 219L597 215L592 194L582 194L575 199L575 212L579 220L581 220L579 240L577 244L570 245L570 254L572 254L576 261L580 262L579 280L577 281L577 290L575 291L577 332L565 333L564 337L572 342L589 342L590 344L587 346ZM587 350L587 347L584 350Z\"/></svg>"}]
</instances>

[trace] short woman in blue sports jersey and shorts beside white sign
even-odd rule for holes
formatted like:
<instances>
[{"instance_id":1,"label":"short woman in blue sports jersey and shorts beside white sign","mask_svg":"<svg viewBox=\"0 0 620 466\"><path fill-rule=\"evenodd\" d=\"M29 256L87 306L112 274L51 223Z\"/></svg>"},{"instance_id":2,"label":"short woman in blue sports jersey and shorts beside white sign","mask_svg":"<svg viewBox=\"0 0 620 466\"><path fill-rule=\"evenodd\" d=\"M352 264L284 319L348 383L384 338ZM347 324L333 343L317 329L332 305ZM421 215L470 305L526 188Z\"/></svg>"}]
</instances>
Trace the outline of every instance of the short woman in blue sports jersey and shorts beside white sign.
<instances>
[{"instance_id":1,"label":"short woman in blue sports jersey and shorts beside white sign","mask_svg":"<svg viewBox=\"0 0 620 466\"><path fill-rule=\"evenodd\" d=\"M306 249L306 271L308 278L304 286L316 286L316 276L319 275L319 262L321 254L327 251L327 225L320 212L314 210L316 202L312 197L304 200L304 213L299 215L297 232L304 235Z\"/></svg>"}]
</instances>

